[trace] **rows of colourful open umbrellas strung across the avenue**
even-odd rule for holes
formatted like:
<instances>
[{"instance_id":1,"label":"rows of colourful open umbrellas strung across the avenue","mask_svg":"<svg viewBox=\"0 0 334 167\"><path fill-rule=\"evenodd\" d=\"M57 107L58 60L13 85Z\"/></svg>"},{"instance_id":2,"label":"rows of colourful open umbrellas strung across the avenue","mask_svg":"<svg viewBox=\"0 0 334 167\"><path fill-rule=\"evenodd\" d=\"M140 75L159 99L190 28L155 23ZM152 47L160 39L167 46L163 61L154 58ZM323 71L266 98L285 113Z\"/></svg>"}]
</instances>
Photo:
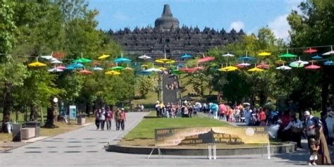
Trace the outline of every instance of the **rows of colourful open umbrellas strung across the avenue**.
<instances>
[{"instance_id":1,"label":"rows of colourful open umbrellas strung across the avenue","mask_svg":"<svg viewBox=\"0 0 334 167\"><path fill-rule=\"evenodd\" d=\"M321 68L321 66L316 65L318 61L326 60L323 62L324 66L334 66L334 62L329 58L329 56L334 55L333 47L330 47L330 51L327 51L324 54L316 54L316 49L306 49L304 50L305 54L309 54L312 58L311 61L303 61L300 56L297 56L295 54L290 54L289 50L287 49L285 54L282 54L278 56L280 58L278 61L276 61L277 64L280 66L277 66L277 70L291 70L292 68L305 68L307 70L316 70ZM314 54L314 55L312 55ZM319 56L321 55L321 56ZM108 54L102 54L102 56L99 56L97 59L99 61L106 61L106 58L109 58L111 55ZM254 67L247 68L249 72L261 72L268 68L271 68L271 65L266 63L266 58L271 56L271 53L263 51L259 53L257 56L259 56L259 63L254 63L256 61L255 56L249 56L248 52L246 51L245 56L240 56L237 58L237 61L240 63L233 64L229 63L230 58L235 57L235 55L230 53L225 53L222 55L223 58L226 58L226 63L221 65L221 68L216 68L216 70L221 72L229 72L234 71L241 68L247 68L251 67L254 64ZM325 58L325 56L328 56L328 58ZM63 72L64 70L75 70L78 71L78 73L83 75L92 74L92 70L94 71L102 71L106 70L104 73L106 75L120 75L121 71L123 70L134 70L134 68L131 68L129 66L130 63L132 63L132 60L130 58L126 58L123 56L123 54L120 55L120 57L113 59L113 66L111 68L101 68L99 66L94 65L92 68L86 68L89 63L92 63L92 60L89 58L83 57L81 54L80 58L77 58L68 66L63 66L63 62L58 60L58 58L54 58L52 54L50 56L39 56L40 58L44 58L53 68L50 68L48 71L51 73L58 73ZM30 67L44 67L47 66L46 63L39 62L39 57L36 58L35 62L29 63L28 66ZM178 66L173 66L173 63L175 63L175 60L166 58L166 53L164 54L163 58L159 58L153 61L151 61L152 57L147 56L146 54L142 56L138 56L138 58L142 59L144 62L142 64L142 70L140 70L140 73L155 73L155 72L161 72L163 70L171 70L171 73L174 74L181 74L181 73L195 73L199 70L204 70L206 66L204 66L205 63L214 61L216 57L214 56L205 56L202 55L202 58L197 59L197 64L192 67L187 67L186 64L178 64ZM193 58L190 54L183 54L180 56L180 58L183 58L183 60L188 60L190 58ZM295 61L292 61L292 59L296 59ZM288 62L289 61L289 62ZM151 67L149 68L149 62L151 62ZM136 62L137 63L137 62ZM154 63L161 64L159 67L154 67ZM120 64L122 66L120 66ZM288 64L285 65L285 64ZM125 66L124 66L125 65ZM218 66L216 63L210 63L209 66Z\"/></svg>"}]
</instances>

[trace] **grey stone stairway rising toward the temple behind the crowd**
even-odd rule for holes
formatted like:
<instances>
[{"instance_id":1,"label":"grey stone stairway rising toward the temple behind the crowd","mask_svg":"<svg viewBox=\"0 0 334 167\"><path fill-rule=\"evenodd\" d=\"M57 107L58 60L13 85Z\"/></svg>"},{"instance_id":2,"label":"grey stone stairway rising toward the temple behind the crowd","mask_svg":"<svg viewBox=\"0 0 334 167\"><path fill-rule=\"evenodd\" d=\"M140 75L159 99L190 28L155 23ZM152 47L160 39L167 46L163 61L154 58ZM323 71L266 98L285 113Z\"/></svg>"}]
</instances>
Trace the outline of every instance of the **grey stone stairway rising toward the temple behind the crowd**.
<instances>
[{"instance_id":1,"label":"grey stone stairway rising toward the temple behind the crowd","mask_svg":"<svg viewBox=\"0 0 334 167\"><path fill-rule=\"evenodd\" d=\"M162 75L163 85L163 103L178 104L178 89L167 89L166 85L171 85L173 82L178 82L171 75Z\"/></svg>"}]
</instances>

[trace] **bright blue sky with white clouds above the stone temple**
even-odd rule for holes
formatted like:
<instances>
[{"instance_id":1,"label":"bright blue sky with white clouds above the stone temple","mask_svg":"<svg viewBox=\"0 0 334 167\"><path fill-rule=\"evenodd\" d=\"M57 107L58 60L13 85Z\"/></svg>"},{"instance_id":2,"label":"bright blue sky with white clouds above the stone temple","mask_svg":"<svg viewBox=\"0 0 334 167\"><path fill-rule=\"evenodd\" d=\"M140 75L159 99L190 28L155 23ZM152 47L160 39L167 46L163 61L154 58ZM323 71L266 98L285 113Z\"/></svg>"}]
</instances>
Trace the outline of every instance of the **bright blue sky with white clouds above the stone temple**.
<instances>
[{"instance_id":1,"label":"bright blue sky with white clouds above the stone temple","mask_svg":"<svg viewBox=\"0 0 334 167\"><path fill-rule=\"evenodd\" d=\"M97 9L98 28L120 30L130 27L154 27L163 5L169 4L180 26L242 29L247 34L269 27L276 37L288 39L290 26L286 17L303 0L89 0L89 8Z\"/></svg>"}]
</instances>

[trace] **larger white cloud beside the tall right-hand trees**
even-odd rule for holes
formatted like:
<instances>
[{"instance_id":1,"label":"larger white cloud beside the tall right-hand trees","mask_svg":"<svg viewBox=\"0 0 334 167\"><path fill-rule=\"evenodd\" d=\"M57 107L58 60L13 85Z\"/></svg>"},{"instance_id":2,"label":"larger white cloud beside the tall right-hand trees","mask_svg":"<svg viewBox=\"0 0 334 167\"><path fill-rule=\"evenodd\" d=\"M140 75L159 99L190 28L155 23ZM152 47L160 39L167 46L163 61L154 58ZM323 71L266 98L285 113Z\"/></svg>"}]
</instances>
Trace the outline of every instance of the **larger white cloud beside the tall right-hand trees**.
<instances>
[{"instance_id":1,"label":"larger white cloud beside the tall right-hand trees","mask_svg":"<svg viewBox=\"0 0 334 167\"><path fill-rule=\"evenodd\" d=\"M268 27L273 31L273 34L284 40L288 39L290 30L290 25L287 23L287 16L288 14L278 16L268 23Z\"/></svg>"}]
</instances>

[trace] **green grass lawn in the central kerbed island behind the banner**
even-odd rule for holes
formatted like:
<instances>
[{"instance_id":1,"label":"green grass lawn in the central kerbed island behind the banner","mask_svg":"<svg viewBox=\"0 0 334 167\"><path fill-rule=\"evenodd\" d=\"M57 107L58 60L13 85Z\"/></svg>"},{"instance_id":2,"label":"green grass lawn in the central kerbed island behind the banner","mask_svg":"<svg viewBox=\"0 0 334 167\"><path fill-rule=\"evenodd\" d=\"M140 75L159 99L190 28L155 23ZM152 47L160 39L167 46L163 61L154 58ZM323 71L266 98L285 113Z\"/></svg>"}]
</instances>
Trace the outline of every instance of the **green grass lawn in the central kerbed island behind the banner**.
<instances>
[{"instance_id":1,"label":"green grass lawn in the central kerbed island behind the banner","mask_svg":"<svg viewBox=\"0 0 334 167\"><path fill-rule=\"evenodd\" d=\"M132 146L154 145L154 129L156 128L191 128L204 126L228 126L220 120L207 118L199 114L198 118L155 118L155 111L142 120L119 144Z\"/></svg>"}]
</instances>

